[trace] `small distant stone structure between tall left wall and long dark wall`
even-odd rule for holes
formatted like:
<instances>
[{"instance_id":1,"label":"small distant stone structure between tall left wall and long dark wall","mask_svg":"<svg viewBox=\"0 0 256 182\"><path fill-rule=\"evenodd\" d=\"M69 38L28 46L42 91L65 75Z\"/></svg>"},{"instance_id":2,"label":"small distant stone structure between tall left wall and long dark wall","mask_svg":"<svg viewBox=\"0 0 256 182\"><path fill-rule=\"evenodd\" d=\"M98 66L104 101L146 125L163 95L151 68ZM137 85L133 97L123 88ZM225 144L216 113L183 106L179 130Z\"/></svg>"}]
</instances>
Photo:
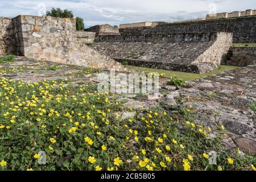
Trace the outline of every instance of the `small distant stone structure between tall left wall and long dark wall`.
<instances>
[{"instance_id":1,"label":"small distant stone structure between tall left wall and long dark wall","mask_svg":"<svg viewBox=\"0 0 256 182\"><path fill-rule=\"evenodd\" d=\"M85 29L85 31L96 32L99 35L119 35L118 26L110 26L109 24L96 25Z\"/></svg>"}]
</instances>

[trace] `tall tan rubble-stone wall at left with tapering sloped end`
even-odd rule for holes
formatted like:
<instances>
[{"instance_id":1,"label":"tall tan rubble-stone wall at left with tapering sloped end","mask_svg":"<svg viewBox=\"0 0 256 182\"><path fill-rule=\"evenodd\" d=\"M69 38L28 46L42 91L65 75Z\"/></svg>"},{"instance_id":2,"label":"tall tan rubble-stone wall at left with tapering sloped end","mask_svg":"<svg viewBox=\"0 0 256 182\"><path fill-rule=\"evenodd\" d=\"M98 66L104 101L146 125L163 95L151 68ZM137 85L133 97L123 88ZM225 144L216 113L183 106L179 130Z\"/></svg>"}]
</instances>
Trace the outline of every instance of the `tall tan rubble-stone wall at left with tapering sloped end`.
<instances>
[{"instance_id":1,"label":"tall tan rubble-stone wall at left with tapering sloped end","mask_svg":"<svg viewBox=\"0 0 256 182\"><path fill-rule=\"evenodd\" d=\"M75 19L19 15L12 23L16 55L61 64L123 69L110 57L77 41Z\"/></svg>"}]
</instances>

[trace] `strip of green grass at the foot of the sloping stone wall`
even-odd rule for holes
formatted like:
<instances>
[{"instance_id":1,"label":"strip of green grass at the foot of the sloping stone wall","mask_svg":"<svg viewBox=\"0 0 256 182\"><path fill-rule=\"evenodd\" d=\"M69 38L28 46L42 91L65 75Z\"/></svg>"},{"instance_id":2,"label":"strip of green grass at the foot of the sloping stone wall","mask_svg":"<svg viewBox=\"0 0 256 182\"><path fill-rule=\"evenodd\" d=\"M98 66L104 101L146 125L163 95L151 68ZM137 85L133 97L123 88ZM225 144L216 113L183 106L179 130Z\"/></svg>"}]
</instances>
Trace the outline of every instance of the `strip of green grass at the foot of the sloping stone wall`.
<instances>
[{"instance_id":1,"label":"strip of green grass at the foot of the sloping stone wall","mask_svg":"<svg viewBox=\"0 0 256 182\"><path fill-rule=\"evenodd\" d=\"M213 70L209 73L203 73L203 74L195 74L195 73L186 73L186 72L176 72L176 71L168 71L168 70L164 70L164 69L154 69L154 68L144 68L144 67L134 67L134 66L127 66L128 68L131 69L137 69L139 71L148 71L148 72L158 72L159 75L164 74L165 77L172 77L172 76L176 76L180 79L183 79L185 81L193 81L193 80L197 80L203 77L207 77L209 75L214 75L220 72L225 72L225 71L229 71L232 69L237 69L240 67L237 66L229 66L229 65L220 65L218 69Z\"/></svg>"}]
</instances>

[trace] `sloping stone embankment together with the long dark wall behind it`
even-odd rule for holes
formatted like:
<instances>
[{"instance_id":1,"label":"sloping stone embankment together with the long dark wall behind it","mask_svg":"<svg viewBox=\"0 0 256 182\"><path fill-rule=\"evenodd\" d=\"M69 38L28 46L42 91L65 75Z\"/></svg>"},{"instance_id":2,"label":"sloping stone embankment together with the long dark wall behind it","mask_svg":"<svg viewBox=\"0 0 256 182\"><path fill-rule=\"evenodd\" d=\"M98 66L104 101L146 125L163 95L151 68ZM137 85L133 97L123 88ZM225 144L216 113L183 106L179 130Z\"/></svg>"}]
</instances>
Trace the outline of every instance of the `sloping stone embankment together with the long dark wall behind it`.
<instances>
[{"instance_id":1,"label":"sloping stone embankment together with the long dark wall behind it","mask_svg":"<svg viewBox=\"0 0 256 182\"><path fill-rule=\"evenodd\" d=\"M233 60L237 57L236 51L229 50L232 43L254 43L255 27L256 16L245 16L120 28L121 35L98 36L92 47L129 65L205 73L221 63L229 63L233 55ZM246 51L240 53L246 61L235 59L232 65L252 63L253 56L246 54Z\"/></svg>"}]
</instances>

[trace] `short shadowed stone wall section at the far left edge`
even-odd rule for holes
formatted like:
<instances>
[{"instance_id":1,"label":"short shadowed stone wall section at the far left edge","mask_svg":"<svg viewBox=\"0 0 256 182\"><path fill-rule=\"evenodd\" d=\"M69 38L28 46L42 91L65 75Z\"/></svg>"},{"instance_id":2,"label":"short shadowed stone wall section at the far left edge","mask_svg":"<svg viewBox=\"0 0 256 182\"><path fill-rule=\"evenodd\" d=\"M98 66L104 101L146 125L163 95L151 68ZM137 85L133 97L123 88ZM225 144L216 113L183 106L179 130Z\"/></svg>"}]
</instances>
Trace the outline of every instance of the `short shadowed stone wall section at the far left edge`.
<instances>
[{"instance_id":1,"label":"short shadowed stone wall section at the far left edge","mask_svg":"<svg viewBox=\"0 0 256 182\"><path fill-rule=\"evenodd\" d=\"M15 52L15 38L11 18L0 17L0 55Z\"/></svg>"}]
</instances>

